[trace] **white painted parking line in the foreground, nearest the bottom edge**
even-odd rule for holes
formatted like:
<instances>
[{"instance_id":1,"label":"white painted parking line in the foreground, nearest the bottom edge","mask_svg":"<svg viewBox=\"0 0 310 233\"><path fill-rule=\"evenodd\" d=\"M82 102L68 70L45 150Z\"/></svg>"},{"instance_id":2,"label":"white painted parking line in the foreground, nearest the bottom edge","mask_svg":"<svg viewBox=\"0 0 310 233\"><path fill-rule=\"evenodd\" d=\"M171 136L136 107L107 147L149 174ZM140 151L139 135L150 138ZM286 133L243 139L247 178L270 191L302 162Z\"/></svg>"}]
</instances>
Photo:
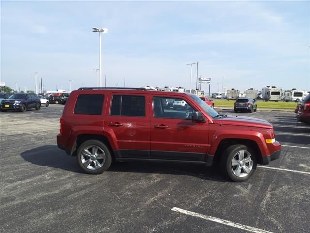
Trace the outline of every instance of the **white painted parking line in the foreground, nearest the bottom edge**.
<instances>
[{"instance_id":1,"label":"white painted parking line in the foreground, nearest the bottom edge","mask_svg":"<svg viewBox=\"0 0 310 233\"><path fill-rule=\"evenodd\" d=\"M217 218L217 217L211 217L211 216L207 216L207 215L202 215L202 214L195 213L195 212L192 212L192 211L183 210L183 209L180 209L180 208L177 208L177 207L173 207L171 210L175 211L175 212L182 213L182 214L186 214L186 215L190 215L190 216L194 216L194 217L199 217L199 218L202 218L202 219L205 219L205 220L217 222L217 223L224 224L224 225L227 225L227 226L236 227L236 228L243 229L243 230L246 230L246 231L249 231L249 232L272 233L272 232L268 232L268 231L265 231L265 230L262 230L262 229L259 229L259 228L250 227L250 226L243 225L243 224L240 224L240 223L234 223L234 222L227 221L227 220L224 220L224 219L220 219L220 218Z\"/></svg>"}]
</instances>

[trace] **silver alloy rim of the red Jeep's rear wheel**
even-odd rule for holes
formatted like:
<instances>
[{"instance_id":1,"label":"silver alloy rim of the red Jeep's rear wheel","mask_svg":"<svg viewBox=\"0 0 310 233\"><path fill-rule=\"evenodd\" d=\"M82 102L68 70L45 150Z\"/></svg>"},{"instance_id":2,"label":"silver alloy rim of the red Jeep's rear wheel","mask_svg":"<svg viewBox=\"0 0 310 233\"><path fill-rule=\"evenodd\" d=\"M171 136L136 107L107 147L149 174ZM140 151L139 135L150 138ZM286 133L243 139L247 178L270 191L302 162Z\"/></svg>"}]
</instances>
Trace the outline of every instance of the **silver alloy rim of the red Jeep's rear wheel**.
<instances>
[{"instance_id":1,"label":"silver alloy rim of the red Jeep's rear wheel","mask_svg":"<svg viewBox=\"0 0 310 233\"><path fill-rule=\"evenodd\" d=\"M98 170L106 162L106 154L100 147L91 145L84 148L80 159L87 169Z\"/></svg>"}]
</instances>

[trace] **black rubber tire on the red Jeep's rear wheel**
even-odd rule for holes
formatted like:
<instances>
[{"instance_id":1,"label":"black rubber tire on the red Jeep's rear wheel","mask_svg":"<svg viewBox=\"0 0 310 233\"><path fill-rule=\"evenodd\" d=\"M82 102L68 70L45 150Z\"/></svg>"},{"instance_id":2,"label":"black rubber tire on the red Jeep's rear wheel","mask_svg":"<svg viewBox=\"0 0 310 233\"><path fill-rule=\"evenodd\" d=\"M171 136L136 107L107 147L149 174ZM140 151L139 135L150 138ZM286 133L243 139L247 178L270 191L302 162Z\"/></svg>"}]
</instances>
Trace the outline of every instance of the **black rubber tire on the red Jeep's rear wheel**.
<instances>
[{"instance_id":1,"label":"black rubber tire on the red Jeep's rear wheel","mask_svg":"<svg viewBox=\"0 0 310 233\"><path fill-rule=\"evenodd\" d=\"M93 148L93 146L97 147L98 149L100 148L102 150L101 152L103 152L103 153L101 153L99 155L105 157L105 159L96 159L95 158L95 160L93 161L91 159L91 156L93 155L93 149L92 149L92 152L90 152L88 150L92 155L89 156L89 155L86 155L85 153L82 155L82 152L84 151L84 149L87 149L87 148L90 148L90 147ZM99 156L99 155L97 155L97 156ZM89 163L90 168L87 168L86 166L84 166L84 164L87 161L85 161L84 164L82 162L83 159L86 160L86 158L88 158L88 157L89 157L88 161L92 161L92 162ZM89 173L89 174L101 174L102 172L104 172L107 169L109 169L109 167L111 166L112 156L111 156L111 152L110 152L109 148L104 143L102 143L101 141L98 141L98 140L88 140L88 141L83 142L79 146L78 152L77 152L77 161L78 161L78 165L86 173ZM93 168L93 166L96 166L95 161L97 161L99 163L102 163L102 166L100 168L91 169L91 167Z\"/></svg>"}]
</instances>

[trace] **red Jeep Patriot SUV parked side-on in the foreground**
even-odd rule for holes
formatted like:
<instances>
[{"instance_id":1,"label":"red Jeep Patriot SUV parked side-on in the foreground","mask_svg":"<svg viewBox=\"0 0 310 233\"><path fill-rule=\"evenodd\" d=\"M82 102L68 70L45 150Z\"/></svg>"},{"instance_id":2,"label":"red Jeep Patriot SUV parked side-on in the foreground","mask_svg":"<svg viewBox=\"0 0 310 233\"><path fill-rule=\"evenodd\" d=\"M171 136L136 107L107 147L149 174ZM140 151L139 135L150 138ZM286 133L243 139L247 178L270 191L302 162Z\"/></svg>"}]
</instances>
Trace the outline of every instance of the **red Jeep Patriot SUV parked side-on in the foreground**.
<instances>
[{"instance_id":1,"label":"red Jeep Patriot SUV parked side-on in the foreground","mask_svg":"<svg viewBox=\"0 0 310 233\"><path fill-rule=\"evenodd\" d=\"M186 107L165 107L180 101ZM60 118L57 145L90 174L104 172L112 160L207 166L218 161L237 182L281 152L265 120L218 114L190 93L144 88L72 91Z\"/></svg>"}]
</instances>

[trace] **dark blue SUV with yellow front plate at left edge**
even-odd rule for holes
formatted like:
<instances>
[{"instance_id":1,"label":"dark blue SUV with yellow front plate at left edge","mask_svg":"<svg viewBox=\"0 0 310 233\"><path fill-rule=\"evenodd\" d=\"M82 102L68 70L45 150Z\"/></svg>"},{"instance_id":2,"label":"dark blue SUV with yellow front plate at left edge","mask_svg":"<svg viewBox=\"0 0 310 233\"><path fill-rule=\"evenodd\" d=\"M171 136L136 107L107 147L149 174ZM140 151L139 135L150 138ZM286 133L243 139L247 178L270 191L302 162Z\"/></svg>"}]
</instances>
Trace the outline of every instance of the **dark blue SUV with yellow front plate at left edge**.
<instances>
[{"instance_id":1,"label":"dark blue SUV with yellow front plate at left edge","mask_svg":"<svg viewBox=\"0 0 310 233\"><path fill-rule=\"evenodd\" d=\"M16 93L1 101L1 111L6 112L7 110L18 110L26 112L29 108L35 108L40 110L41 101L36 94L24 94Z\"/></svg>"}]
</instances>

